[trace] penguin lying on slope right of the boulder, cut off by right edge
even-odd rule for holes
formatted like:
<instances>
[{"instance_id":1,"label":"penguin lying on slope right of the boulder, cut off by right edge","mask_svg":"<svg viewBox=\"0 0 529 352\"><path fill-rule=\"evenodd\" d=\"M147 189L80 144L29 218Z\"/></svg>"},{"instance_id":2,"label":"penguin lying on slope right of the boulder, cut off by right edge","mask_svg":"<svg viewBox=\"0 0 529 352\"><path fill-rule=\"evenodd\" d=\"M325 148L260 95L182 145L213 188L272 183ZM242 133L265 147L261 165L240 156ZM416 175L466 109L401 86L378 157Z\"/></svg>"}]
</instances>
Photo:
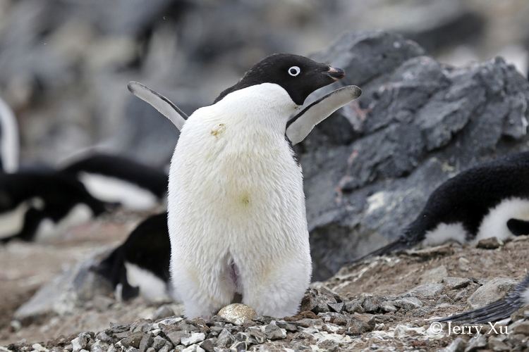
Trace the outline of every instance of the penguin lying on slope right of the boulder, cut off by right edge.
<instances>
[{"instance_id":1,"label":"penguin lying on slope right of the boulder, cut off by right edge","mask_svg":"<svg viewBox=\"0 0 529 352\"><path fill-rule=\"evenodd\" d=\"M483 163L446 180L404 234L362 258L417 244L506 239L529 233L529 152Z\"/></svg>"}]
</instances>

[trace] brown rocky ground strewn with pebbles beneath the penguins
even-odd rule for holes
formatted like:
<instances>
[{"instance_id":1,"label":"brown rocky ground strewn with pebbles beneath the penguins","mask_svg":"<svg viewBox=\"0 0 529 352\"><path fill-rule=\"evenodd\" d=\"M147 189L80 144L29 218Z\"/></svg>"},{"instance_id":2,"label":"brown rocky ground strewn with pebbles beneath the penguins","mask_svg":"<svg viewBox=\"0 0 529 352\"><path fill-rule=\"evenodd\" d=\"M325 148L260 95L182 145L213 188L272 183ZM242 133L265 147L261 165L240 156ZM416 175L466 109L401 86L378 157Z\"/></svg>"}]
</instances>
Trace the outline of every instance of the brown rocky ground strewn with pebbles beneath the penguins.
<instances>
[{"instance_id":1,"label":"brown rocky ground strewn with pebbles beneath the penguins","mask_svg":"<svg viewBox=\"0 0 529 352\"><path fill-rule=\"evenodd\" d=\"M487 246L449 244L372 258L315 282L301 313L281 320L222 313L186 320L175 303L125 303L99 292L75 307L12 320L42 282L77 260L115 244L134 220L123 215L78 229L61 244L11 244L1 249L4 297L1 350L10 351L494 351L529 348L529 310L513 314L508 334L437 333L435 318L494 301L526 275L529 237ZM95 235L99 234L99 235ZM99 248L94 246L95 242ZM23 259L14 260L13 258ZM506 258L509 262L506 263ZM14 263L17 263L14 265ZM11 266L10 266L11 265ZM243 315L244 316L244 315ZM497 327L499 330L499 328Z\"/></svg>"}]
</instances>

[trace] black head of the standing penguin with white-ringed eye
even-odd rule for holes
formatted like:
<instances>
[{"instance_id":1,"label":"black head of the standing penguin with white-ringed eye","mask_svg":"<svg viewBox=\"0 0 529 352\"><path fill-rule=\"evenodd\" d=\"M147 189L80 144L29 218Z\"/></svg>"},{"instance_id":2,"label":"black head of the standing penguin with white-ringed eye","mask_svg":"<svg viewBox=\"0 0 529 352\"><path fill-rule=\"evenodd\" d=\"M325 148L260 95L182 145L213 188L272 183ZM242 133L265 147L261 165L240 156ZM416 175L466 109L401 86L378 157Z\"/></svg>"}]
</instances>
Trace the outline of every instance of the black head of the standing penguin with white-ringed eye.
<instances>
[{"instance_id":1,"label":"black head of the standing penguin with white-ringed eye","mask_svg":"<svg viewBox=\"0 0 529 352\"><path fill-rule=\"evenodd\" d=\"M318 63L299 55L273 54L256 63L237 84L222 92L214 102L238 89L274 83L283 87L294 103L302 105L310 93L343 77L345 73L341 68L332 68L327 63Z\"/></svg>"}]
</instances>

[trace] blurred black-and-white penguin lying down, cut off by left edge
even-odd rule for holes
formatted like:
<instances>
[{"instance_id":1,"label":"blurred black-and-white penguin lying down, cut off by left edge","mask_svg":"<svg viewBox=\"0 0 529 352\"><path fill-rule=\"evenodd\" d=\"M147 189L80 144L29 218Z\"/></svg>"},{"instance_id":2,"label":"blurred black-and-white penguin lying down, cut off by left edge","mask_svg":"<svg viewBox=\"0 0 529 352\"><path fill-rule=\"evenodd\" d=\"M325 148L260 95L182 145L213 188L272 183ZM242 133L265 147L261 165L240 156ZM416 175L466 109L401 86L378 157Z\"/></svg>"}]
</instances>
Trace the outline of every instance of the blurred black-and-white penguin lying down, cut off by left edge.
<instances>
[{"instance_id":1,"label":"blurred black-and-white penguin lying down, cut off by left edge","mask_svg":"<svg viewBox=\"0 0 529 352\"><path fill-rule=\"evenodd\" d=\"M71 175L48 171L0 174L0 242L48 239L108 207Z\"/></svg>"}]
</instances>

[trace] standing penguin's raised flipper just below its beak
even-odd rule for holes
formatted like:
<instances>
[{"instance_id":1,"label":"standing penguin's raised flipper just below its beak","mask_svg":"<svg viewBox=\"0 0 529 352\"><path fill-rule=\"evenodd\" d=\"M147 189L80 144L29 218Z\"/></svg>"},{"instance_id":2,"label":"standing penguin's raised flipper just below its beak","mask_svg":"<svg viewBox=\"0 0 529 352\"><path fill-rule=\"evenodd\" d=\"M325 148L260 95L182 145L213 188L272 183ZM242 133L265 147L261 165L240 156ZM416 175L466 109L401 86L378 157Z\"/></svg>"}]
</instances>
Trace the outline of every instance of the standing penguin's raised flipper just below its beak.
<instances>
[{"instance_id":1,"label":"standing penguin's raised flipper just below its beak","mask_svg":"<svg viewBox=\"0 0 529 352\"><path fill-rule=\"evenodd\" d=\"M292 145L296 145L308 136L310 131L334 111L350 103L362 94L362 89L356 86L346 86L336 89L329 94L322 96L302 107L301 111L293 116L286 125L286 137L290 139Z\"/></svg>"}]
</instances>

